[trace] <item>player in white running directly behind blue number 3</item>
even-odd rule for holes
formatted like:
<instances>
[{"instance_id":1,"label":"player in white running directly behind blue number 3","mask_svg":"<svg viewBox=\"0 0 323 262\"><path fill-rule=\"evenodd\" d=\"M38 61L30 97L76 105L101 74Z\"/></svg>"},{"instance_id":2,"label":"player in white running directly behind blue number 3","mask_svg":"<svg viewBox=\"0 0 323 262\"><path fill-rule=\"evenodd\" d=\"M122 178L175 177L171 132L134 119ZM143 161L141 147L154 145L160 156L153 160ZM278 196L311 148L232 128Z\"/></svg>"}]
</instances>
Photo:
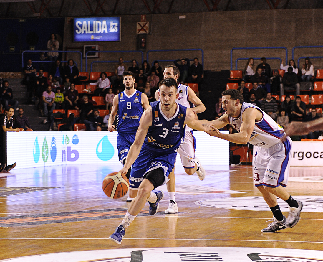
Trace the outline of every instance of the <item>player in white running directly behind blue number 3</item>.
<instances>
[{"instance_id":1,"label":"player in white running directly behind blue number 3","mask_svg":"<svg viewBox=\"0 0 323 262\"><path fill-rule=\"evenodd\" d=\"M180 71L176 66L168 65L164 70L164 79L173 78L178 80ZM195 105L191 108L194 113L199 114L205 111L205 106L202 101L196 96L192 88L178 84L177 92L179 94L176 102L187 108L190 108L190 102ZM155 93L155 98L158 101L158 90ZM200 180L205 178L205 169L202 167L200 160L195 157L195 137L193 136L192 128L186 126L185 138L182 146L177 149L177 153L180 154L182 165L186 174L193 175L195 172ZM177 203L175 200L175 171L169 175L169 181L167 182L167 191L169 195L169 206L165 210L166 214L174 214L178 212Z\"/></svg>"}]
</instances>

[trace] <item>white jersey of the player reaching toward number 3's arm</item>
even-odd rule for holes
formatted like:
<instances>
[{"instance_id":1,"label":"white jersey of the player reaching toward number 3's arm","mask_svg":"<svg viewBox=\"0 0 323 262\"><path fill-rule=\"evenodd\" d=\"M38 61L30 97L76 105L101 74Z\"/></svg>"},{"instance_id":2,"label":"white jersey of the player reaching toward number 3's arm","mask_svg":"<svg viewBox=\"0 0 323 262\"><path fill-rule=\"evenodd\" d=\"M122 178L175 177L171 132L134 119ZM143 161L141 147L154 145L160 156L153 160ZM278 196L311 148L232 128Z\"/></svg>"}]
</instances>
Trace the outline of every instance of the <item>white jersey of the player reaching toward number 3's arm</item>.
<instances>
[{"instance_id":1,"label":"white jersey of the player reaching toward number 3's arm","mask_svg":"<svg viewBox=\"0 0 323 262\"><path fill-rule=\"evenodd\" d=\"M279 143L281 141L280 138L284 135L283 127L279 126L269 115L253 104L243 103L240 116L237 118L229 117L230 125L240 132L240 127L243 123L242 114L249 107L258 109L263 117L260 121L255 122L254 130L248 142L256 147L264 148Z\"/></svg>"}]
</instances>

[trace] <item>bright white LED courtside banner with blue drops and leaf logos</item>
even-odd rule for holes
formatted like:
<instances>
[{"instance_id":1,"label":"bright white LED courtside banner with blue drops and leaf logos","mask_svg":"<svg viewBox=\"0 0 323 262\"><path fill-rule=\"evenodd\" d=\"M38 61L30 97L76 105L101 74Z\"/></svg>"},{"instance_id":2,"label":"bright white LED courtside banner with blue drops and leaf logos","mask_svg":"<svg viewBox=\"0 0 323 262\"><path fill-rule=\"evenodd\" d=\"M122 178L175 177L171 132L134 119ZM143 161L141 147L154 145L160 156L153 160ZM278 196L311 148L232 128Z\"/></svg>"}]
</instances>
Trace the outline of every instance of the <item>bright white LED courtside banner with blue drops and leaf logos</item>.
<instances>
[{"instance_id":1,"label":"bright white LED courtside banner with blue drops and leaf logos","mask_svg":"<svg viewBox=\"0 0 323 262\"><path fill-rule=\"evenodd\" d=\"M227 132L228 131L223 131ZM229 142L194 131L196 157L205 165L229 165ZM7 132L7 163L16 169L57 165L110 165L122 168L118 132ZM181 166L177 154L176 165ZM119 170L116 170L119 171Z\"/></svg>"}]
</instances>

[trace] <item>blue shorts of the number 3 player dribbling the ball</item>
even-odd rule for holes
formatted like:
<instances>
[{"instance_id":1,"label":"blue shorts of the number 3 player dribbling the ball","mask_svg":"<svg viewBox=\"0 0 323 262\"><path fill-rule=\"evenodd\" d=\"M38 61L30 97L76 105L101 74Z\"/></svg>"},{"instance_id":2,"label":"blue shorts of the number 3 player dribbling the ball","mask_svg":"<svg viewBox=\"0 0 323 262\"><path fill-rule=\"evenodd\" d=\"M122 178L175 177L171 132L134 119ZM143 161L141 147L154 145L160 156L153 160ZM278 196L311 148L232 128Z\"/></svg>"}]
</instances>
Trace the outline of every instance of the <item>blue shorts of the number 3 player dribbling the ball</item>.
<instances>
[{"instance_id":1,"label":"blue shorts of the number 3 player dribbling the ball","mask_svg":"<svg viewBox=\"0 0 323 262\"><path fill-rule=\"evenodd\" d=\"M132 165L129 184L131 189L138 189L142 180L148 171L161 168L164 170L165 181L168 182L168 175L174 168L177 153L174 151L170 154L156 153L145 146L141 147L138 158Z\"/></svg>"}]
</instances>

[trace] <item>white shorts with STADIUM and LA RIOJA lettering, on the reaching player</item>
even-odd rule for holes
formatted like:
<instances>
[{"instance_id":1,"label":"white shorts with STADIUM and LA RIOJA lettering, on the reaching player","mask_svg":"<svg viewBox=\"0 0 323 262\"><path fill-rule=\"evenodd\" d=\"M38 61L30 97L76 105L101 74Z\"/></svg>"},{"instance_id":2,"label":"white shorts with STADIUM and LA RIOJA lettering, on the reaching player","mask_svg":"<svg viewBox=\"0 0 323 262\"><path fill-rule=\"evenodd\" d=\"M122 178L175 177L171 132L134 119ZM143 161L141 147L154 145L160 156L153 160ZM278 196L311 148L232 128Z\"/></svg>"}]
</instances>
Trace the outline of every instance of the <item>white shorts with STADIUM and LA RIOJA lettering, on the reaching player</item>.
<instances>
[{"instance_id":1,"label":"white shorts with STADIUM and LA RIOJA lettering, on the reaching player","mask_svg":"<svg viewBox=\"0 0 323 262\"><path fill-rule=\"evenodd\" d=\"M287 186L292 155L291 142L288 136L285 142L279 142L269 148L255 147L256 154L252 162L256 187Z\"/></svg>"}]
</instances>

